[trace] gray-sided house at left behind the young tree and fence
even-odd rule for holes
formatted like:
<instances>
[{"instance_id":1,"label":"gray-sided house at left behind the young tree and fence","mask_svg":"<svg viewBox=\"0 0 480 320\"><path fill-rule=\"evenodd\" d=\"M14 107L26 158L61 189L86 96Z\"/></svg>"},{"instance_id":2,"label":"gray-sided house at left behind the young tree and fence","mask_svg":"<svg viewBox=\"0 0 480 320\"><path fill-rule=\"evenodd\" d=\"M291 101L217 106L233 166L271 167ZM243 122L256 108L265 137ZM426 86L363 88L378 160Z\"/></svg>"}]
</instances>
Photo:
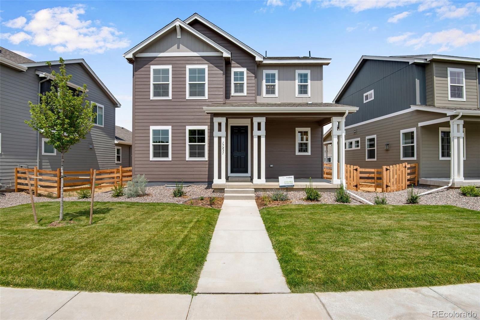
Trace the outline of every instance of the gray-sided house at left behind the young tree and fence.
<instances>
[{"instance_id":1,"label":"gray-sided house at left behind the young tree and fence","mask_svg":"<svg viewBox=\"0 0 480 320\"><path fill-rule=\"evenodd\" d=\"M25 124L30 118L28 101L38 103L38 93L50 88L50 68L0 47L0 183L1 190L14 188L14 168L38 166L56 170L60 154L45 137ZM65 60L73 88L87 85L88 99L95 102L96 125L86 138L65 154L65 170L113 168L115 163L115 108L120 103L84 59ZM52 61L58 71L59 61Z\"/></svg>"}]
</instances>

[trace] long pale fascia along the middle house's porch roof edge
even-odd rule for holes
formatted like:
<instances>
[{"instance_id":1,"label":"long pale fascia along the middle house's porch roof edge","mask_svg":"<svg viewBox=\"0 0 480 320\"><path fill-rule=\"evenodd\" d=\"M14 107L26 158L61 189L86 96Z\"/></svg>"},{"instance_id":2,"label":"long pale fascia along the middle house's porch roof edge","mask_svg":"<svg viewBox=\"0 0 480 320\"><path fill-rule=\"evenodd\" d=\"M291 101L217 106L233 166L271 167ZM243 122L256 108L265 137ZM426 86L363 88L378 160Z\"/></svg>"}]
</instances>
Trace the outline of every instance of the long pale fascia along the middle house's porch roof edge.
<instances>
[{"instance_id":1,"label":"long pale fascia along the middle house's porch roof edge","mask_svg":"<svg viewBox=\"0 0 480 320\"><path fill-rule=\"evenodd\" d=\"M206 113L344 113L358 109L358 107L204 107Z\"/></svg>"}]
</instances>

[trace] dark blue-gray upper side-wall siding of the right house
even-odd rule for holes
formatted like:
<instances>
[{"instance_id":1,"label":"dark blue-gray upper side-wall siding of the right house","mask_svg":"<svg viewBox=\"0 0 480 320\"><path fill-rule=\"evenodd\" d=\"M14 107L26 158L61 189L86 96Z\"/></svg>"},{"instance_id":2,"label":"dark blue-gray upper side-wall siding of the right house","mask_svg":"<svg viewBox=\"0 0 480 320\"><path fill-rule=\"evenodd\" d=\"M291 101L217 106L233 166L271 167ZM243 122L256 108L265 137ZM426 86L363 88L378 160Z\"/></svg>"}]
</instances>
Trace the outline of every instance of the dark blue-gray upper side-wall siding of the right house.
<instances>
[{"instance_id":1,"label":"dark blue-gray upper side-wall siding of the right house","mask_svg":"<svg viewBox=\"0 0 480 320\"><path fill-rule=\"evenodd\" d=\"M417 93L417 88L419 91ZM374 99L363 103L363 94L374 90ZM425 104L425 67L402 61L366 60L336 103L359 107L347 116L346 125L381 117Z\"/></svg>"}]
</instances>

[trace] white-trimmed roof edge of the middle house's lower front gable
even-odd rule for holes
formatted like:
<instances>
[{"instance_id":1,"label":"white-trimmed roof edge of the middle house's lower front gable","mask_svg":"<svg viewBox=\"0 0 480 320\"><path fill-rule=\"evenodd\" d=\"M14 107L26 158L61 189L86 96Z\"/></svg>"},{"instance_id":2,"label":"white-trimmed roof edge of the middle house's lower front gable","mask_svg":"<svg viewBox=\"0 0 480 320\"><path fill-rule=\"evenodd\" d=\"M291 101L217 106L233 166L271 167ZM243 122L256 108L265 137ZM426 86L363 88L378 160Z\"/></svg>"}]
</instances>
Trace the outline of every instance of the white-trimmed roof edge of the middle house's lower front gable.
<instances>
[{"instance_id":1,"label":"white-trimmed roof edge of the middle house's lower front gable","mask_svg":"<svg viewBox=\"0 0 480 320\"><path fill-rule=\"evenodd\" d=\"M201 40L203 40L204 42L208 43L210 46L216 48L218 51L222 52L223 53L223 56L224 57L227 57L227 58L230 58L231 57L231 53L230 51L228 51L226 48L220 46L219 44L217 44L215 41L213 41L212 39L204 36L202 33L198 32L197 30L195 30L194 28L192 28L190 25L186 24L185 22L181 21L179 18L173 20L171 23L167 24L166 26L164 26L163 28L161 28L160 30L158 30L156 33L154 33L153 35L149 36L148 38L146 38L144 41L140 42L138 45L136 45L135 47L132 47L130 50L128 50L127 52L125 52L123 54L123 57L127 60L134 60L134 55L136 53L138 53L138 51L140 51L143 47L147 46L148 44L152 43L152 41L155 41L157 38L159 38L160 36L162 36L163 34L165 34L166 32L170 31L171 29L173 28L177 28L177 27L181 27L181 28L184 28L185 30L189 31L190 33L192 33L194 36L197 36L198 38L200 38Z\"/></svg>"}]
</instances>

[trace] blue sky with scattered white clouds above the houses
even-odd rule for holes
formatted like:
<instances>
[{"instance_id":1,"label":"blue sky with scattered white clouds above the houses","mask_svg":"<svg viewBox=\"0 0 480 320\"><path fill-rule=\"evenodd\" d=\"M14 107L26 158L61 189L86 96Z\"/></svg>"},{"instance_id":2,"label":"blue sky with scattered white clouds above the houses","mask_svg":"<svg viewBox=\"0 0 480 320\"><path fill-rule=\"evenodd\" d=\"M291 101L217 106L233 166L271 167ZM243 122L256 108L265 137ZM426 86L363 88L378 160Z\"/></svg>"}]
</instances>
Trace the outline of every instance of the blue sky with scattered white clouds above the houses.
<instances>
[{"instance_id":1,"label":"blue sky with scattered white clouds above the houses","mask_svg":"<svg viewBox=\"0 0 480 320\"><path fill-rule=\"evenodd\" d=\"M480 57L480 2L448 0L2 1L0 44L36 61L84 58L122 104L117 125L131 129L122 54L193 12L262 54L332 58L324 102L361 55Z\"/></svg>"}]
</instances>

